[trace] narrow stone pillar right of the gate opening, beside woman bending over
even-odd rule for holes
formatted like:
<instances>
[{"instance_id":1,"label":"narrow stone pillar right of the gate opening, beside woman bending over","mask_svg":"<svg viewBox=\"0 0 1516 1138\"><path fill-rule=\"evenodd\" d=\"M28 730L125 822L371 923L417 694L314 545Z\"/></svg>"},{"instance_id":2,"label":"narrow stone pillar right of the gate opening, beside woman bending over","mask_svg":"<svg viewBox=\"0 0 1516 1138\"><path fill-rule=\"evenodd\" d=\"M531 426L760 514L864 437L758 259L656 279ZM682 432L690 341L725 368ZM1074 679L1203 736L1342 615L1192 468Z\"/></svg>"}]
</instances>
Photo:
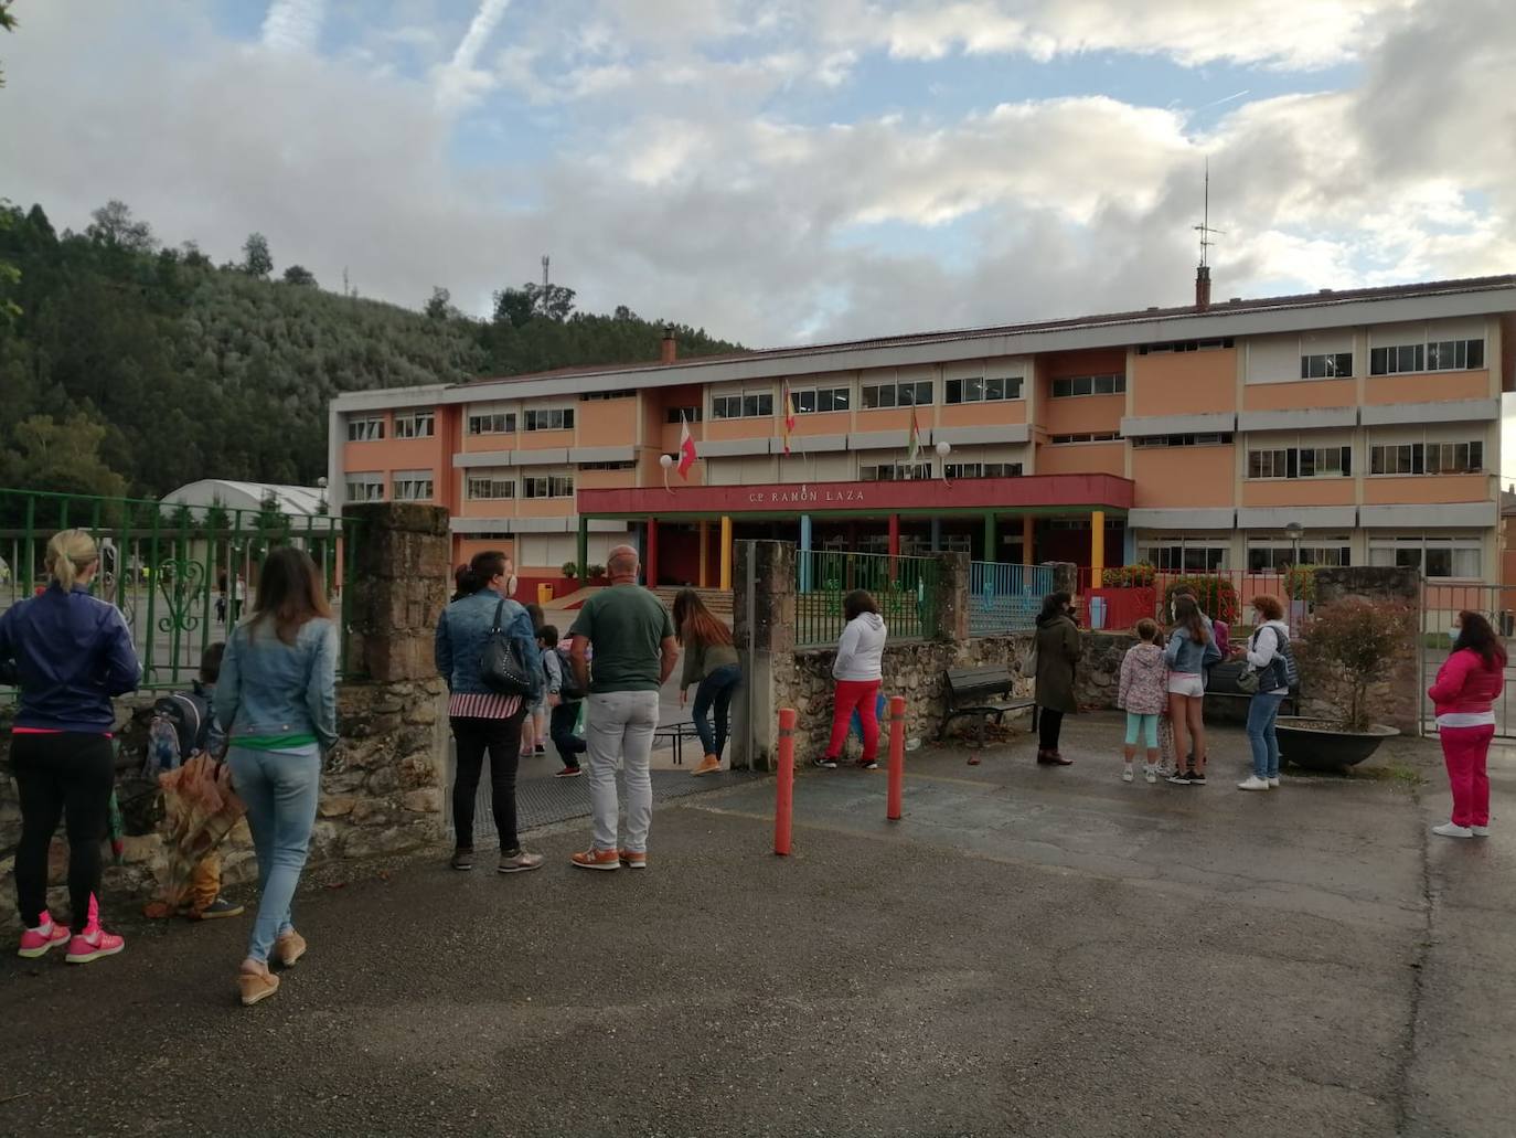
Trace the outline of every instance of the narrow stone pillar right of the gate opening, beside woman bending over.
<instances>
[{"instance_id":1,"label":"narrow stone pillar right of the gate opening, beside woman bending over","mask_svg":"<svg viewBox=\"0 0 1516 1138\"><path fill-rule=\"evenodd\" d=\"M732 709L732 768L773 771L779 709L794 689L794 546L743 542L735 578L732 634L744 686Z\"/></svg>"}]
</instances>

